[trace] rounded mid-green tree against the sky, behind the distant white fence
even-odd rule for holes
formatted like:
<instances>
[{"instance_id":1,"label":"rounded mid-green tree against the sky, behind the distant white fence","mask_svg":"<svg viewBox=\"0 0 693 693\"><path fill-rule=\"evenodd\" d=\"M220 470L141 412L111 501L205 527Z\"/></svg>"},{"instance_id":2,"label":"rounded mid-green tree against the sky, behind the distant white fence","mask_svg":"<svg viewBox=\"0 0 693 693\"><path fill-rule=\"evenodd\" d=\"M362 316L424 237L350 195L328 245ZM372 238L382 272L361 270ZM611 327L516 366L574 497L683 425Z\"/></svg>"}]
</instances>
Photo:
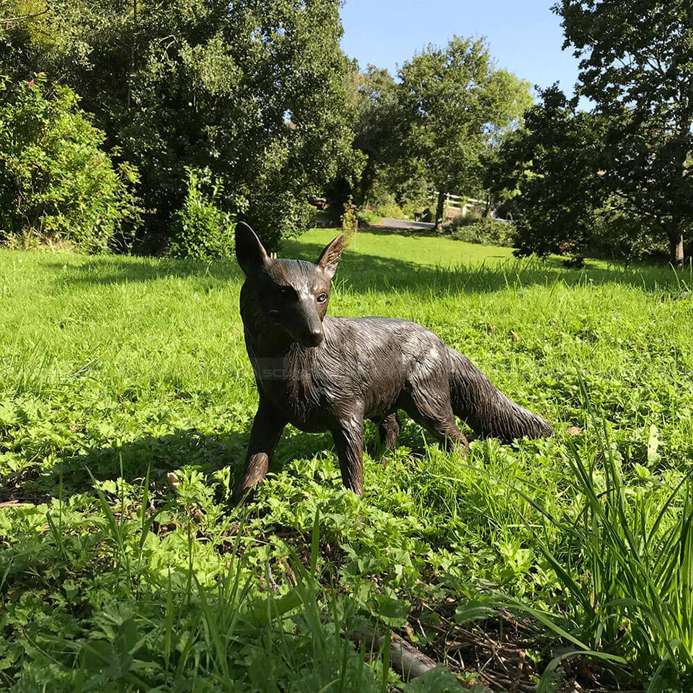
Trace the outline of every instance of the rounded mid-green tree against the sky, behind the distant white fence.
<instances>
[{"instance_id":1,"label":"rounded mid-green tree against the sky, behind the distant white fence","mask_svg":"<svg viewBox=\"0 0 693 693\"><path fill-rule=\"evenodd\" d=\"M482 40L459 37L414 55L400 78L412 119L408 146L439 191L441 229L446 193L480 188L482 153L531 105L529 84L496 69Z\"/></svg>"}]
</instances>

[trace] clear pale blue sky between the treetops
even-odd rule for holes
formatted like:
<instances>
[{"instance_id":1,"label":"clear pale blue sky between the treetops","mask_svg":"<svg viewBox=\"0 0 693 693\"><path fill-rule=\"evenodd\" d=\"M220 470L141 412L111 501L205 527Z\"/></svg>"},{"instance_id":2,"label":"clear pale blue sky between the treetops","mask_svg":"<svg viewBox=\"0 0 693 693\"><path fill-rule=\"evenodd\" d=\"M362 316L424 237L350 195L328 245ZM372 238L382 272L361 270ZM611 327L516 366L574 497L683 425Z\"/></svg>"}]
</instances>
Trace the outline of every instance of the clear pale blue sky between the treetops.
<instances>
[{"instance_id":1,"label":"clear pale blue sky between the treetops","mask_svg":"<svg viewBox=\"0 0 693 693\"><path fill-rule=\"evenodd\" d=\"M627 0L626 0L627 1ZM577 60L561 50L554 0L346 0L342 49L367 64L396 73L397 64L429 43L444 46L453 35L485 36L498 67L532 85L560 82L572 94Z\"/></svg>"}]
</instances>

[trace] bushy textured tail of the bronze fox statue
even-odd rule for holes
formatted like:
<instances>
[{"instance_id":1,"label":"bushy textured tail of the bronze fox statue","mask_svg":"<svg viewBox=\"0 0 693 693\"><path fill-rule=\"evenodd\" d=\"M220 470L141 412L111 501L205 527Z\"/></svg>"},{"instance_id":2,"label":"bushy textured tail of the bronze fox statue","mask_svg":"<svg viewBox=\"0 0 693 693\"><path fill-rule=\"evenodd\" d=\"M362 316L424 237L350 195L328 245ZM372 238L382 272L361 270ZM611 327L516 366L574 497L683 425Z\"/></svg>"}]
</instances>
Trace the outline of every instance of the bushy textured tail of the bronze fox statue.
<instances>
[{"instance_id":1,"label":"bushy textured tail of the bronze fox statue","mask_svg":"<svg viewBox=\"0 0 693 693\"><path fill-rule=\"evenodd\" d=\"M450 399L453 411L481 437L500 438L508 443L516 438L544 438L554 430L502 394L464 355L450 349L452 373Z\"/></svg>"}]
</instances>

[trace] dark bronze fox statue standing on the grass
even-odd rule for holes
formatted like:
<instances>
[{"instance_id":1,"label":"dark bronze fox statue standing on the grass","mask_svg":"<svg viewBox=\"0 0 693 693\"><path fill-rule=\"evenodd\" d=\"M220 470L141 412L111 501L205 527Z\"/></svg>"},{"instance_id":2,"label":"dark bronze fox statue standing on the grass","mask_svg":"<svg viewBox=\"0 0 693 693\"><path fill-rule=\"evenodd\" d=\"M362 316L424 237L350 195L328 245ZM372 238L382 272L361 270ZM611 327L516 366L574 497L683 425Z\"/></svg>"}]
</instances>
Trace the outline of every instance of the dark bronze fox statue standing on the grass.
<instances>
[{"instance_id":1,"label":"dark bronze fox statue standing on the grass","mask_svg":"<svg viewBox=\"0 0 693 693\"><path fill-rule=\"evenodd\" d=\"M481 436L511 441L552 428L498 389L425 327L392 317L326 317L344 249L337 236L317 263L273 259L252 229L236 226L245 273L240 315L260 394L238 498L261 482L287 423L331 432L347 489L363 493L363 421L394 447L398 410L448 448L468 450L455 415Z\"/></svg>"}]
</instances>

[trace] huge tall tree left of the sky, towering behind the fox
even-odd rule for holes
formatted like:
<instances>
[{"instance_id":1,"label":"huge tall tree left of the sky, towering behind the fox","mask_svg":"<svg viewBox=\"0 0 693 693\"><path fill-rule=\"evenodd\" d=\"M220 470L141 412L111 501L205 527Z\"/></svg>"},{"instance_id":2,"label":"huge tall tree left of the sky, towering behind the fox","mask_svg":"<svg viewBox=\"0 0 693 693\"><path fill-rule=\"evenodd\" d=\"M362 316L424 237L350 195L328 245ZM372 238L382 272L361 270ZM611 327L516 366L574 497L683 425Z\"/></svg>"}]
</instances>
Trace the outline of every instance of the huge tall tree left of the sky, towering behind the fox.
<instances>
[{"instance_id":1,"label":"huge tall tree left of the sky, towering behind the fox","mask_svg":"<svg viewBox=\"0 0 693 693\"><path fill-rule=\"evenodd\" d=\"M53 0L17 29L35 69L82 95L110 146L141 171L148 240L164 239L186 166L223 180L276 249L307 198L358 173L352 67L339 0ZM26 52L26 51L25 51Z\"/></svg>"}]
</instances>

